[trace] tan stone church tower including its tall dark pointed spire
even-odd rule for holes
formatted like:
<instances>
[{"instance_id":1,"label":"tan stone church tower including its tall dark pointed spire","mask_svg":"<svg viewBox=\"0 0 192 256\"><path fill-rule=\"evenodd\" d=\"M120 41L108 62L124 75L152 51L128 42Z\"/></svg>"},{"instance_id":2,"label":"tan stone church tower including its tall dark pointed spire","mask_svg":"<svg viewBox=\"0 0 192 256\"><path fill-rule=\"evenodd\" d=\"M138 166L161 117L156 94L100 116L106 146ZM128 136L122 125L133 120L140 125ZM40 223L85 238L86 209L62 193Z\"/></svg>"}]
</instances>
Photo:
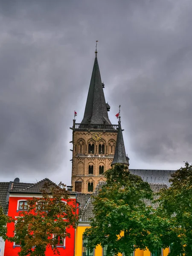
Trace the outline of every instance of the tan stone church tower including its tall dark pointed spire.
<instances>
[{"instance_id":1,"label":"tan stone church tower including its tall dark pointed spire","mask_svg":"<svg viewBox=\"0 0 192 256\"><path fill-rule=\"evenodd\" d=\"M114 158L118 125L109 120L103 88L96 52L83 120L73 120L72 186L76 192L93 192L105 180L103 173Z\"/></svg>"}]
</instances>

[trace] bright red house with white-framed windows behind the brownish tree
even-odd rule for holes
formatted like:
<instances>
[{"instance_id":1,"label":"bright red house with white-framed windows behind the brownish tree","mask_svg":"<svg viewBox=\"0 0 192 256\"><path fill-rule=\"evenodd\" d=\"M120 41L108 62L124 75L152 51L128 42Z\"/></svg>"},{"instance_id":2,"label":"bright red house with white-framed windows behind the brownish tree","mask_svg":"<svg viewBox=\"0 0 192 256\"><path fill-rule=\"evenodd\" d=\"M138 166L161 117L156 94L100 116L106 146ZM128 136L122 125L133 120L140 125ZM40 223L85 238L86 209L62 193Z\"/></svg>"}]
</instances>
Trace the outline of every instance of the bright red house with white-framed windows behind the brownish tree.
<instances>
[{"instance_id":1,"label":"bright red house with white-framed windows behind the brownish tree","mask_svg":"<svg viewBox=\"0 0 192 256\"><path fill-rule=\"evenodd\" d=\"M35 197L41 198L40 195L40 188L44 185L45 182L51 182L49 179L41 180L36 184L29 185L27 188L23 189L23 184L26 183L18 183L13 184L10 192L9 192L9 208L8 208L8 215L15 220L19 216L20 211L23 211L23 205L27 203L27 200ZM54 184L54 183L53 183ZM26 186L27 186L26 185ZM35 186L36 185L36 186ZM21 188L22 187L22 188ZM78 211L78 203L76 202L76 194L74 192L69 192L69 200L62 200L66 201L67 204L76 205L76 209ZM78 214L78 212L76 212ZM7 235L9 237L14 236L14 229L15 223L8 223L7 224ZM74 244L75 244L75 229L70 227L67 229L67 232L70 233L70 238L66 237L62 239L58 237L57 239L57 248L59 250L60 256L73 256L74 255ZM53 235L54 236L54 235ZM5 242L5 250L4 256L17 256L18 252L20 251L20 245L15 244L15 242L7 241ZM47 247L46 256L53 256L55 255L50 247ZM56 254L57 255L57 254Z\"/></svg>"}]
</instances>

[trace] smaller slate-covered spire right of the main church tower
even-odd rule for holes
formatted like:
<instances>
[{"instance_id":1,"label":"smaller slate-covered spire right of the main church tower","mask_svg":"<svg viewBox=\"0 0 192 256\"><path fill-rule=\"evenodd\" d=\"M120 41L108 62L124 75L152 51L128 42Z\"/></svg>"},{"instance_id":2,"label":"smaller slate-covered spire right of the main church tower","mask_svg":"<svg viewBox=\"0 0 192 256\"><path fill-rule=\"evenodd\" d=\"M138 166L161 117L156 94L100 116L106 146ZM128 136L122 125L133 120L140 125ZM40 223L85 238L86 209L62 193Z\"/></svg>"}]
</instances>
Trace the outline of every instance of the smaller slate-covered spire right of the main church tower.
<instances>
[{"instance_id":1,"label":"smaller slate-covered spire right of the main church tower","mask_svg":"<svg viewBox=\"0 0 192 256\"><path fill-rule=\"evenodd\" d=\"M115 154L113 162L111 163L111 166L113 166L116 163L122 163L126 166L129 166L129 158L126 157L125 154L125 145L123 141L122 136L122 128L121 128L121 121L119 120L119 128L117 133L117 139L116 139L116 147L115 147Z\"/></svg>"}]
</instances>

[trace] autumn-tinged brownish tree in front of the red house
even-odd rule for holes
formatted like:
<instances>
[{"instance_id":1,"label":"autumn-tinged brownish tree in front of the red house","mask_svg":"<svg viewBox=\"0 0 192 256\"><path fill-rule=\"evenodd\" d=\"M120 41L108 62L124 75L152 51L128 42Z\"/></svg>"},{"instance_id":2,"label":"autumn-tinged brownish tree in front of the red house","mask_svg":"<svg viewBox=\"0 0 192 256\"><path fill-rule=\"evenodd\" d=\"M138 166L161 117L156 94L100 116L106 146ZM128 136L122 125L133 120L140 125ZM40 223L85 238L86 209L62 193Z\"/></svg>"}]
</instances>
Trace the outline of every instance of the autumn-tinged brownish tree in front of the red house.
<instances>
[{"instance_id":1,"label":"autumn-tinged brownish tree in front of the red house","mask_svg":"<svg viewBox=\"0 0 192 256\"><path fill-rule=\"evenodd\" d=\"M27 209L20 212L15 223L15 236L11 239L20 244L20 256L44 256L47 247L59 253L58 239L70 237L67 228L76 227L78 215L76 204L69 204L69 193L64 186L60 183L50 189L50 184L46 183L42 198L29 199ZM67 204L61 199L66 199Z\"/></svg>"}]
</instances>

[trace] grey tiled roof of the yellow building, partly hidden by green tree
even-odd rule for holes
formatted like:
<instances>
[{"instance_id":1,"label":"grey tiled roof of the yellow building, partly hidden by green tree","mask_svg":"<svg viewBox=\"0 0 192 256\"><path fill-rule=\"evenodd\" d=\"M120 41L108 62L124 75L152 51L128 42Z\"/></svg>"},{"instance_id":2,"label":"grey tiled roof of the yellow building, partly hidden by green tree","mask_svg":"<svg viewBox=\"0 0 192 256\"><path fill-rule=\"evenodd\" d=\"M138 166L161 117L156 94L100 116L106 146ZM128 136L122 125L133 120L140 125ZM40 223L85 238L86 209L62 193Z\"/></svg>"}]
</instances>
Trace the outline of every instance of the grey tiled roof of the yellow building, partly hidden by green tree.
<instances>
[{"instance_id":1,"label":"grey tiled roof of the yellow building, partly hidden by green tree","mask_svg":"<svg viewBox=\"0 0 192 256\"><path fill-rule=\"evenodd\" d=\"M105 182L99 182L99 184L96 186L95 191L93 192L93 195L97 195L99 189L102 187L102 185L105 184ZM152 191L154 192L154 199L157 199L157 195L155 195L156 193L158 193L160 191L160 189L167 189L168 186L165 183L149 183ZM82 197L84 197L84 195L87 194L82 194ZM81 213L80 213L80 222L84 222L84 221L90 221L91 218L94 217L93 215L93 198L90 196L90 198L87 200L87 203L85 204L84 208L81 209ZM145 199L144 200L145 204L147 206L151 205L154 208L157 208L158 204L157 203L152 203L151 200Z\"/></svg>"}]
</instances>

